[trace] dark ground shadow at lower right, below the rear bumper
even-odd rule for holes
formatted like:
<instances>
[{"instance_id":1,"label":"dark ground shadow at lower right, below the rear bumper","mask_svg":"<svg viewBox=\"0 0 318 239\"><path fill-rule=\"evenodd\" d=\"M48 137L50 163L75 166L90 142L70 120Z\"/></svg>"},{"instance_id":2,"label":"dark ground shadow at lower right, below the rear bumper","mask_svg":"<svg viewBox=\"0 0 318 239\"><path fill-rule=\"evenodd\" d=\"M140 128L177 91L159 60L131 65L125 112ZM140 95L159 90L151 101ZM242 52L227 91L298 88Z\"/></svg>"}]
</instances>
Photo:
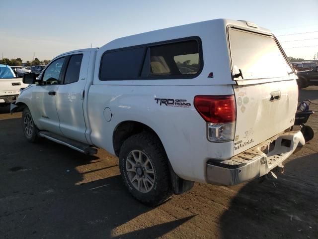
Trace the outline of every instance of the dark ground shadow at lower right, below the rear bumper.
<instances>
[{"instance_id":1,"label":"dark ground shadow at lower right, below the rear bumper","mask_svg":"<svg viewBox=\"0 0 318 239\"><path fill-rule=\"evenodd\" d=\"M285 168L278 180L256 179L238 192L220 219L223 239L318 238L318 153Z\"/></svg>"}]
</instances>

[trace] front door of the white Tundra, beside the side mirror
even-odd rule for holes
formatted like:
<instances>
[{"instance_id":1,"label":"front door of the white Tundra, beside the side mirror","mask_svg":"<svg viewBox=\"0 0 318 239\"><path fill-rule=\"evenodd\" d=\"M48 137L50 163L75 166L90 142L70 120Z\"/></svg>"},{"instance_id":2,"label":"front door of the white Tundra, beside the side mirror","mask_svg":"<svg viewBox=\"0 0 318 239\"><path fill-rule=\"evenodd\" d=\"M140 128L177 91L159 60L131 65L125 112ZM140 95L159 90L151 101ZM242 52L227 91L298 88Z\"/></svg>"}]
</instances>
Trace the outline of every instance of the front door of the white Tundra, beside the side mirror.
<instances>
[{"instance_id":1,"label":"front door of the white Tundra, beside the side mirror","mask_svg":"<svg viewBox=\"0 0 318 239\"><path fill-rule=\"evenodd\" d=\"M56 92L62 82L65 57L50 63L40 76L41 81L32 91L32 117L40 129L62 134L56 110Z\"/></svg>"}]
</instances>

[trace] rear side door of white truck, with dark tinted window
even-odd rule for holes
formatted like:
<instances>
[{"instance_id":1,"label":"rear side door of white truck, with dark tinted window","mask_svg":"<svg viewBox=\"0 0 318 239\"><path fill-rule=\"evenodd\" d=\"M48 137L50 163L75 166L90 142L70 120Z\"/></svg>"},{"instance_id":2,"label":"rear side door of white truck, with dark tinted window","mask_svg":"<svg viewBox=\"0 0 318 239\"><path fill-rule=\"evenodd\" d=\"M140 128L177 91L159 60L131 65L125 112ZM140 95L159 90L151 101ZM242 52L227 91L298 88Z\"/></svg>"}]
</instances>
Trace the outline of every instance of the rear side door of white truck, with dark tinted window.
<instances>
[{"instance_id":1,"label":"rear side door of white truck, with dark tinted window","mask_svg":"<svg viewBox=\"0 0 318 239\"><path fill-rule=\"evenodd\" d=\"M63 135L81 142L87 142L83 99L89 56L89 51L67 56L63 84L60 85L56 96L56 109Z\"/></svg>"}]
</instances>

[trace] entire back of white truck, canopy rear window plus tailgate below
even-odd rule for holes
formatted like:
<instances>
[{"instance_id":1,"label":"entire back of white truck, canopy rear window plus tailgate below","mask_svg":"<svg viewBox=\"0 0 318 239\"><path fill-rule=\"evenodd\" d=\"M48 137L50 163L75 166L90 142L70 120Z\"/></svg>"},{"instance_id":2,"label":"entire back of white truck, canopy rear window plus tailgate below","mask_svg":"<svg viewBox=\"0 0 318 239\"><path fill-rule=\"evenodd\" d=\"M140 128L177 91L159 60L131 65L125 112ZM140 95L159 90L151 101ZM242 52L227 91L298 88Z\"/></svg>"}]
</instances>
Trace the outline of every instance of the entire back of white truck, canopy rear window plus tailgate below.
<instances>
[{"instance_id":1,"label":"entire back of white truck, canopy rear window plus tailgate below","mask_svg":"<svg viewBox=\"0 0 318 239\"><path fill-rule=\"evenodd\" d=\"M274 36L229 29L237 122L234 155L294 124L297 76Z\"/></svg>"}]
</instances>

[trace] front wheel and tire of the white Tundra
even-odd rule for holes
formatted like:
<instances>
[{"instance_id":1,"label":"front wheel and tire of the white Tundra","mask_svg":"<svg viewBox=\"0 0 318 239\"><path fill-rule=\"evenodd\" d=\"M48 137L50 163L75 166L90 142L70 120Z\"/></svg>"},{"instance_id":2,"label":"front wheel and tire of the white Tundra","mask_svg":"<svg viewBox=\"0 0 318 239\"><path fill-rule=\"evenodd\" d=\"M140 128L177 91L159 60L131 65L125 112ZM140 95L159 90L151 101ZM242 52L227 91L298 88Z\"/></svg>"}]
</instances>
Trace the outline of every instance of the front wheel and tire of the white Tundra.
<instances>
[{"instance_id":1,"label":"front wheel and tire of the white Tundra","mask_svg":"<svg viewBox=\"0 0 318 239\"><path fill-rule=\"evenodd\" d=\"M39 129L36 127L31 112L27 107L25 107L23 110L21 123L26 139L31 143L37 142Z\"/></svg>"}]
</instances>

